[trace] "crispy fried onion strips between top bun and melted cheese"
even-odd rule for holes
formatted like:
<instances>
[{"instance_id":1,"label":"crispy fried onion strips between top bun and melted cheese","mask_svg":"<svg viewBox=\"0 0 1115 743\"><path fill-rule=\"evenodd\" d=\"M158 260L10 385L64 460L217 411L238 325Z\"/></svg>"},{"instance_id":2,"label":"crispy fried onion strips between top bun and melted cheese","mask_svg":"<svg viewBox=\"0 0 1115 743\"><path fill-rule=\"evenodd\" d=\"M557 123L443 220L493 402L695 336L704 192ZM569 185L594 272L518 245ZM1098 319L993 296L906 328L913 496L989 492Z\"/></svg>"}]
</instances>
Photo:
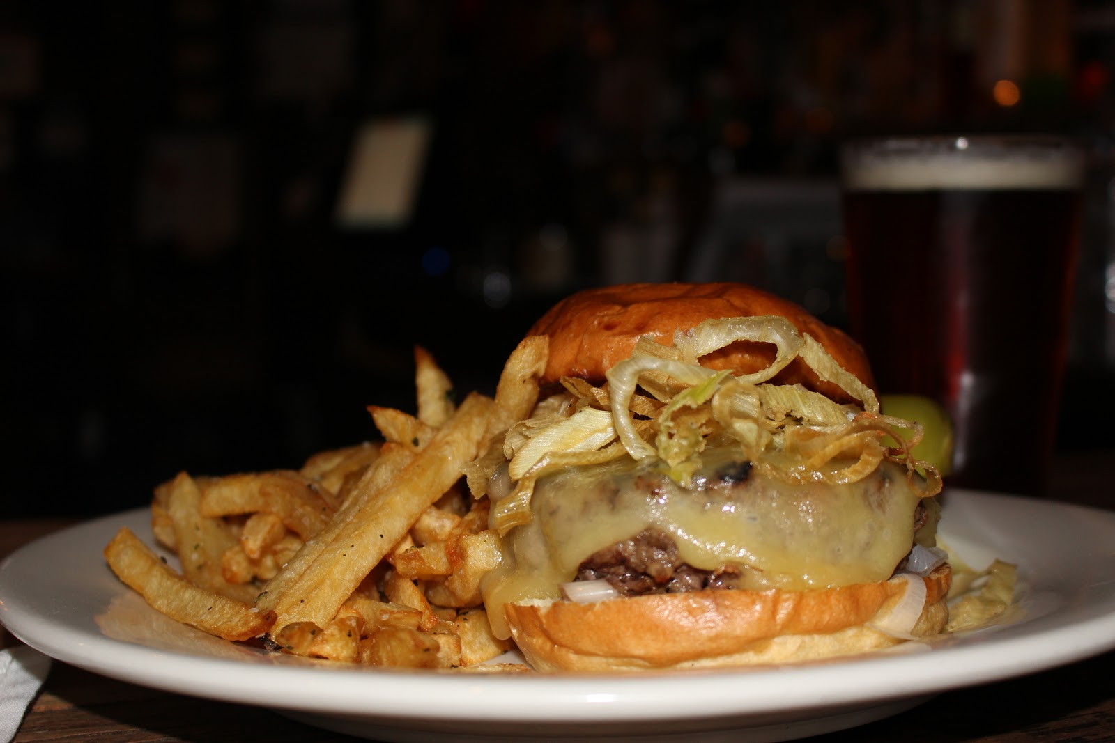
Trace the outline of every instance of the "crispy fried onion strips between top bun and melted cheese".
<instances>
[{"instance_id":1,"label":"crispy fried onion strips between top bun and melted cheese","mask_svg":"<svg viewBox=\"0 0 1115 743\"><path fill-rule=\"evenodd\" d=\"M774 361L738 377L700 365L701 356L740 340L774 344ZM862 407L837 404L799 384L772 383L795 358ZM921 427L881 414L874 392L785 317L706 320L678 332L672 348L640 339L631 358L607 378L605 388L563 380L565 403L540 404L531 419L508 431L504 454L516 485L495 504L495 528L506 532L527 522L534 483L563 467L623 456L657 458L670 477L688 486L700 452L714 440L738 444L753 467L785 482L854 482L885 459L904 465L911 486L923 496L941 489L937 470L910 453Z\"/></svg>"}]
</instances>

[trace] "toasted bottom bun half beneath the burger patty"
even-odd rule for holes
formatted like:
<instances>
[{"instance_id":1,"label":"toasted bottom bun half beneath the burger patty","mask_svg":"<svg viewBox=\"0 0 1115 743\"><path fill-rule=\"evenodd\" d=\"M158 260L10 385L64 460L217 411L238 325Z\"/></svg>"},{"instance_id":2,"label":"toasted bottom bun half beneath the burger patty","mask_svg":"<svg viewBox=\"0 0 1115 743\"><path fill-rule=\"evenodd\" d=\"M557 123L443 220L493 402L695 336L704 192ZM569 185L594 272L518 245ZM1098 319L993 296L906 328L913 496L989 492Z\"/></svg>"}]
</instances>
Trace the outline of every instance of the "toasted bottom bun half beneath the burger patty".
<instances>
[{"instance_id":1,"label":"toasted bottom bun half beneath the burger patty","mask_svg":"<svg viewBox=\"0 0 1115 743\"><path fill-rule=\"evenodd\" d=\"M912 637L948 624L952 570L924 579ZM910 583L892 579L820 590L698 590L592 604L505 606L512 636L537 671L639 671L797 663L904 642L869 626L886 616Z\"/></svg>"}]
</instances>

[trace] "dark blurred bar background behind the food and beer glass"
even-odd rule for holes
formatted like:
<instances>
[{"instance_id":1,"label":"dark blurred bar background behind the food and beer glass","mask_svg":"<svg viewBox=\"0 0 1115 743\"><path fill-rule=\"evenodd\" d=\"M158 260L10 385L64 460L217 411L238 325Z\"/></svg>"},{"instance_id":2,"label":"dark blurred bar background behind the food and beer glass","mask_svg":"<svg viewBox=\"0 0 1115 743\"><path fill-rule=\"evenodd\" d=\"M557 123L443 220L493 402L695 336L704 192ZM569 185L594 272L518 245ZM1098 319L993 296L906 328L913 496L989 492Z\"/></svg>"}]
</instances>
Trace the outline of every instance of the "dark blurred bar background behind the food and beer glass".
<instances>
[{"instance_id":1,"label":"dark blurred bar background behind the food and beer glass","mask_svg":"<svg viewBox=\"0 0 1115 743\"><path fill-rule=\"evenodd\" d=\"M1113 74L1090 0L0 2L0 512L372 438L415 344L491 392L589 285L842 325L835 151L880 131L1089 148L1058 446L1109 446Z\"/></svg>"}]
</instances>

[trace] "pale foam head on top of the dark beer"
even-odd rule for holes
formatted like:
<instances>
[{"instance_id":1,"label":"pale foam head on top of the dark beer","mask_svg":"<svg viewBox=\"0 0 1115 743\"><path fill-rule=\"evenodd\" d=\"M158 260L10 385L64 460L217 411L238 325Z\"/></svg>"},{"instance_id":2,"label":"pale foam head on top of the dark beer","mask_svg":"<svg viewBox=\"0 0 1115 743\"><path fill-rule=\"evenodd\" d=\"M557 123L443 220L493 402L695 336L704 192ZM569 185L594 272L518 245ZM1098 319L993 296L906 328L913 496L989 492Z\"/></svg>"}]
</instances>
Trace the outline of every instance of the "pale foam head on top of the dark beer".
<instances>
[{"instance_id":1,"label":"pale foam head on top of the dark beer","mask_svg":"<svg viewBox=\"0 0 1115 743\"><path fill-rule=\"evenodd\" d=\"M1064 190L1083 185L1084 157L1057 139L952 137L853 144L847 190Z\"/></svg>"}]
</instances>

